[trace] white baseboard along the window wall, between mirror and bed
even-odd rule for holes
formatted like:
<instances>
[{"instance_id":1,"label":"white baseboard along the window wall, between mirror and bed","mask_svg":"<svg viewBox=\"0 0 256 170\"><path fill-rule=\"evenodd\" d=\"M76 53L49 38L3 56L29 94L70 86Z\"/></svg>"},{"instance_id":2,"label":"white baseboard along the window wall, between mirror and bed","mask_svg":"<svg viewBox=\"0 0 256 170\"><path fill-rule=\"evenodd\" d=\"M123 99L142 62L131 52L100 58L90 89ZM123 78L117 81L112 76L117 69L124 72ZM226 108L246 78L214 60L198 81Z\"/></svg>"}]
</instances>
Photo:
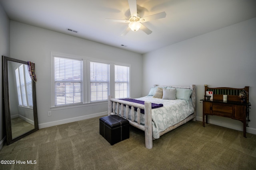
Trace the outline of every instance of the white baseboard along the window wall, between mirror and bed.
<instances>
[{"instance_id":1,"label":"white baseboard along the window wall, between mirror and bed","mask_svg":"<svg viewBox=\"0 0 256 170\"><path fill-rule=\"evenodd\" d=\"M69 119L62 119L62 120L58 120L58 121L51 121L51 122L47 122L47 123L40 123L38 124L39 129L45 128L45 127L51 127L51 126L56 126L56 125L62 125L65 123L71 123L74 121L80 121L80 120L84 120L84 119L90 119L93 117L99 117L99 116L104 116L104 115L108 115L107 111L101 112L101 113L94 113L91 115L84 115L84 116L79 116L79 117L72 117Z\"/></svg>"}]
</instances>

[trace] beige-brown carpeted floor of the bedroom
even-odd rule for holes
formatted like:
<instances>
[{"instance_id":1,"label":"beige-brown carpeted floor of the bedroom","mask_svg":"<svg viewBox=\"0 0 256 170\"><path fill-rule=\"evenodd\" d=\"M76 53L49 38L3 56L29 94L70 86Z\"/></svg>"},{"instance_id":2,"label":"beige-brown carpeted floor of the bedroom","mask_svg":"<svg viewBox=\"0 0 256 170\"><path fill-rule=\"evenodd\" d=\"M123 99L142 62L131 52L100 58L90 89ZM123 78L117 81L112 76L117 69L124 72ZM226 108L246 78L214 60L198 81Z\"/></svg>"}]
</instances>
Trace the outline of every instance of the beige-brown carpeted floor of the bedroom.
<instances>
[{"instance_id":1,"label":"beige-brown carpeted floor of the bedroom","mask_svg":"<svg viewBox=\"0 0 256 170\"><path fill-rule=\"evenodd\" d=\"M129 139L111 146L96 117L39 129L4 145L0 160L14 160L0 170L255 170L256 135L244 138L242 131L189 121L154 140L152 149L134 127Z\"/></svg>"}]
</instances>

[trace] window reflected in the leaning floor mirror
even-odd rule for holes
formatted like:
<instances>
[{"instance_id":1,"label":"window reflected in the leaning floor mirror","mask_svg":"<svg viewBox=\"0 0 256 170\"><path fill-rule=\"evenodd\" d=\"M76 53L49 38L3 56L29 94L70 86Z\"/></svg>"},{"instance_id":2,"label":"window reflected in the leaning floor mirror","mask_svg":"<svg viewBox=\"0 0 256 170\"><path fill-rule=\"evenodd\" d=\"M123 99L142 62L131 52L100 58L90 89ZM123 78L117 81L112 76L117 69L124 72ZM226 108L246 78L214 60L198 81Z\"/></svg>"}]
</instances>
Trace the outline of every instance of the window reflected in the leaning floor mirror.
<instances>
[{"instance_id":1,"label":"window reflected in the leaning floor mirror","mask_svg":"<svg viewBox=\"0 0 256 170\"><path fill-rule=\"evenodd\" d=\"M24 64L15 70L19 106L33 107L32 79Z\"/></svg>"}]
</instances>

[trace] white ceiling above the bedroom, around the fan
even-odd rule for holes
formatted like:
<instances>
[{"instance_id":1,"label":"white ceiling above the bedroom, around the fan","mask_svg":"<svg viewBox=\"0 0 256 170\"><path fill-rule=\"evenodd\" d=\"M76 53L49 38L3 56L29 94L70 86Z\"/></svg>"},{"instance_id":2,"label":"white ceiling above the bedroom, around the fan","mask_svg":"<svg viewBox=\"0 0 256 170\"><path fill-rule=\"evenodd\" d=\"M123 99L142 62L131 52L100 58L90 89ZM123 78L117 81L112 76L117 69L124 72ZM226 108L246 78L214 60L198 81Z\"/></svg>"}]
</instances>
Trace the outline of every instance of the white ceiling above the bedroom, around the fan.
<instances>
[{"instance_id":1,"label":"white ceiling above the bedroom, around the fan","mask_svg":"<svg viewBox=\"0 0 256 170\"><path fill-rule=\"evenodd\" d=\"M137 0L140 17L165 11L166 18L144 23L153 31L150 35L138 30L121 36L128 23L107 22L105 18L128 20L127 0L0 0L0 3L10 20L141 54L256 17L256 0Z\"/></svg>"}]
</instances>

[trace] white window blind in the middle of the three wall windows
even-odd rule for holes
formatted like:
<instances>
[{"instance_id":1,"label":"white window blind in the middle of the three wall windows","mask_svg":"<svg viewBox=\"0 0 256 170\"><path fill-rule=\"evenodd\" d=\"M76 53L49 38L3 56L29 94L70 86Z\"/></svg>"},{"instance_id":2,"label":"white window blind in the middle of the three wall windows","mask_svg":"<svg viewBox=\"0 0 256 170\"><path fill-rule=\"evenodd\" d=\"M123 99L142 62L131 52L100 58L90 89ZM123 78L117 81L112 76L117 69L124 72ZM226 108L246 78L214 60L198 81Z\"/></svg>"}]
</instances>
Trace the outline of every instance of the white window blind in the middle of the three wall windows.
<instances>
[{"instance_id":1,"label":"white window blind in the middle of the three wall windows","mask_svg":"<svg viewBox=\"0 0 256 170\"><path fill-rule=\"evenodd\" d=\"M90 101L108 100L110 64L90 62Z\"/></svg>"}]
</instances>

